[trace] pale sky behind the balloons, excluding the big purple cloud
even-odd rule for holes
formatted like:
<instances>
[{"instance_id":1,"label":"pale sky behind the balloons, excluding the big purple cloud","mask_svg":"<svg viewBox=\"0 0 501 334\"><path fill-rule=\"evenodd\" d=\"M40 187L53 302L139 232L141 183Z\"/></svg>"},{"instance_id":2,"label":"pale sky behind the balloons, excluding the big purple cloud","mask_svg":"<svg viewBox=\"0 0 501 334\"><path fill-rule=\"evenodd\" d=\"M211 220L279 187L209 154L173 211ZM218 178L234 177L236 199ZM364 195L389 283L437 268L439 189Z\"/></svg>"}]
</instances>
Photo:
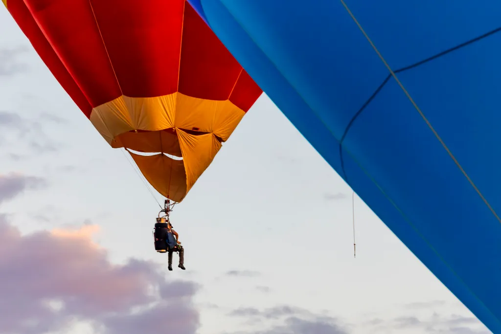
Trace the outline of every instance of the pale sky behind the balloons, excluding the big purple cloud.
<instances>
[{"instance_id":1,"label":"pale sky behind the balloons, excluding the big purple cloud","mask_svg":"<svg viewBox=\"0 0 501 334\"><path fill-rule=\"evenodd\" d=\"M94 241L112 262L135 257L165 269L151 236L158 205L123 152L102 139L3 8L0 31L0 113L11 115L2 123L0 114L0 175L47 183L0 212L23 233L97 224ZM489 332L358 197L355 259L351 214L351 189L263 95L175 207L187 270L165 275L200 285L202 334L342 332L298 322L320 316L350 334ZM293 308L270 315L284 306Z\"/></svg>"}]
</instances>

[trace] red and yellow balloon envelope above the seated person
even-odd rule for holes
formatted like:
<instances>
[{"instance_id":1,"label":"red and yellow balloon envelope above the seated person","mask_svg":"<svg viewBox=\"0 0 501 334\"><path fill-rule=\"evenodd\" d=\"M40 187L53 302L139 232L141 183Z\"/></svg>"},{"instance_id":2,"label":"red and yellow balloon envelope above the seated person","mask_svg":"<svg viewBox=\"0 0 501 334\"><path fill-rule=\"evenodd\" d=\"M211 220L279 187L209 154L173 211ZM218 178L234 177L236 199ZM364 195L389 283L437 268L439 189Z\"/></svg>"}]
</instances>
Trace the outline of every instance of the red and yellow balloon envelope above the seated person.
<instances>
[{"instance_id":1,"label":"red and yellow balloon envelope above the seated person","mask_svg":"<svg viewBox=\"0 0 501 334\"><path fill-rule=\"evenodd\" d=\"M173 201L262 94L185 0L2 1L113 148L158 153L129 151Z\"/></svg>"}]
</instances>

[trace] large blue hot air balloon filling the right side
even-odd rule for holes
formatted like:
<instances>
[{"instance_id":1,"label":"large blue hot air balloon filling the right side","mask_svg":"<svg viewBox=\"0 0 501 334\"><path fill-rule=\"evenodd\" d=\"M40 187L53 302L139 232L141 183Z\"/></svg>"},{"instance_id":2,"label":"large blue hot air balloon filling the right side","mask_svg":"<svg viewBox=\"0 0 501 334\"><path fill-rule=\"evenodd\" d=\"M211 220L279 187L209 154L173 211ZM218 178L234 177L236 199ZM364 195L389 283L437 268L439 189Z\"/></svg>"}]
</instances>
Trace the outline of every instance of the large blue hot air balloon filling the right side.
<instances>
[{"instance_id":1,"label":"large blue hot air balloon filling the right side","mask_svg":"<svg viewBox=\"0 0 501 334\"><path fill-rule=\"evenodd\" d=\"M189 1L396 236L501 333L501 3Z\"/></svg>"}]
</instances>

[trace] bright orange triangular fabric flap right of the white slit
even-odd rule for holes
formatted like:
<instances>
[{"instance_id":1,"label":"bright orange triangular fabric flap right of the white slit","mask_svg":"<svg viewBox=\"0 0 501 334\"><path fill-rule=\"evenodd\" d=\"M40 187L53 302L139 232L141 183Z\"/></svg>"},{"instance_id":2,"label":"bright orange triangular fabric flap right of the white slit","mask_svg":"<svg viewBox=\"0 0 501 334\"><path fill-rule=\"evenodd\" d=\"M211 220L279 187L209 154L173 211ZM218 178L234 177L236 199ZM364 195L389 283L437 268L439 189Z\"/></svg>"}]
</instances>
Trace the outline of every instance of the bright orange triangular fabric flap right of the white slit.
<instances>
[{"instance_id":1,"label":"bright orange triangular fabric flap right of the white slit","mask_svg":"<svg viewBox=\"0 0 501 334\"><path fill-rule=\"evenodd\" d=\"M186 169L186 192L188 192L210 165L221 148L221 143L211 133L195 136L179 129L176 131L183 153L184 168Z\"/></svg>"}]
</instances>

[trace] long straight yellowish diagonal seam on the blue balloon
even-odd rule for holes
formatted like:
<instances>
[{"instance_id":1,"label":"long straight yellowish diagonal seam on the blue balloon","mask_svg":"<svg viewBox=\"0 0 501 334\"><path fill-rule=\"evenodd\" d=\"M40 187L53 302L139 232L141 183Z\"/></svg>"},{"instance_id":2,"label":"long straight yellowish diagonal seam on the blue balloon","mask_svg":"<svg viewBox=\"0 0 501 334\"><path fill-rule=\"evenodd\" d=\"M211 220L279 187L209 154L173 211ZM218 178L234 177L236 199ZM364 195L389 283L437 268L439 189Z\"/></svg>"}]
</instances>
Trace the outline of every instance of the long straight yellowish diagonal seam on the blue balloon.
<instances>
[{"instance_id":1,"label":"long straight yellowish diagonal seam on the blue balloon","mask_svg":"<svg viewBox=\"0 0 501 334\"><path fill-rule=\"evenodd\" d=\"M487 205L487 207L492 212L492 214L495 216L495 218L501 223L501 218L499 218L499 216L497 215L497 213L495 212L495 210L492 208L492 206L490 206L490 204L487 201L487 199L482 195L482 193L480 192L480 190L476 187L476 185L470 179L470 177L468 176L468 174L466 173L466 171L459 164L459 161L457 161L457 159L454 157L454 155L449 150L449 148L447 147L447 145L445 144L445 142L442 140L442 138L440 138L440 136L438 135L438 133L436 132L436 130L433 128L433 126L431 125L431 123L428 121L428 119L426 118L426 116L421 111L421 109L419 109L419 107L417 106L416 102L410 96L409 92L407 92L407 90L402 85L402 83L400 82L400 80L398 80L397 76L395 75L395 73L393 72L393 70L391 69L391 67L388 65L388 63L383 58L383 56L379 53L379 50L376 48L376 46L374 45L374 43L371 41L371 39L369 38L369 36L367 35L367 33L363 30L362 26L357 21L357 19L355 18L355 16L353 15L353 13L350 11L350 9L348 8L348 6L345 4L344 0L340 0L340 1L343 4L343 6L346 9L346 11L348 12L348 14L353 19L353 21L355 21L355 23L357 24L358 28L362 32L362 34L364 34L365 38L370 43L370 45L372 46L372 48L374 49L374 51L377 53L377 55L379 56L379 58L381 59L381 61L383 62L383 64L386 66L386 68L388 69L388 71L390 71L391 76L393 77L393 79L395 79L395 81L398 83L398 85L400 86L400 88L402 89L402 91L404 92L404 94L407 96L407 98L409 99L409 101L412 103L412 105L414 106L414 108L417 110L417 112L419 113L419 115L421 115L422 119L426 122L426 125L428 125L428 127L430 128L430 130L433 132L433 134L438 139L438 141L440 142L440 144L442 144L442 146L445 149L445 151L447 151L447 153L449 154L449 156L451 157L451 159L454 161L454 163L456 164L456 166L459 168L459 170L466 177L466 179L471 184L471 186L473 187L473 189L475 189L475 191L480 196L480 198L483 200L483 202L485 203L485 205Z\"/></svg>"}]
</instances>

